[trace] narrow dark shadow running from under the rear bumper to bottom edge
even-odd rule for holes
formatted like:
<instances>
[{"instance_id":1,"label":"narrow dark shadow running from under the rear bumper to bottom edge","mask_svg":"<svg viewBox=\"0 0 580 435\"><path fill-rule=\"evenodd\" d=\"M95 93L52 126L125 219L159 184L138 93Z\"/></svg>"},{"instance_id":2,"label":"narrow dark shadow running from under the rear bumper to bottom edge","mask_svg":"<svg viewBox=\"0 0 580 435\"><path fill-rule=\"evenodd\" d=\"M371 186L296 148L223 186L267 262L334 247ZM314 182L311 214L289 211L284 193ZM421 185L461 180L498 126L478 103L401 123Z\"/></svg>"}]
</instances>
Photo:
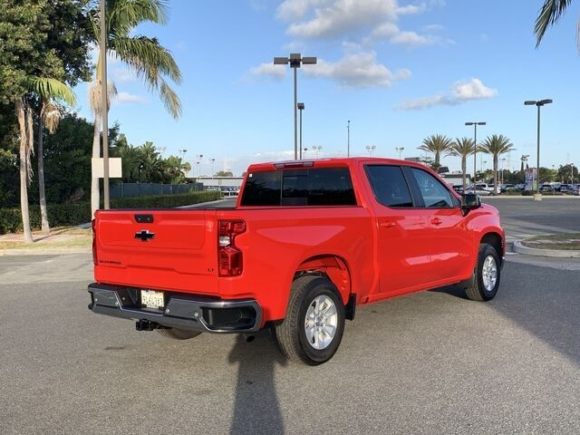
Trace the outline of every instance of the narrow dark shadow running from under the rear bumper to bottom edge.
<instances>
[{"instance_id":1,"label":"narrow dark shadow running from under the rear bumper to bottom edge","mask_svg":"<svg viewBox=\"0 0 580 435\"><path fill-rule=\"evenodd\" d=\"M257 333L252 343L238 335L228 362L237 364L236 398L229 433L284 433L284 420L275 391L275 366L285 366L287 361L278 350L272 333Z\"/></svg>"}]
</instances>

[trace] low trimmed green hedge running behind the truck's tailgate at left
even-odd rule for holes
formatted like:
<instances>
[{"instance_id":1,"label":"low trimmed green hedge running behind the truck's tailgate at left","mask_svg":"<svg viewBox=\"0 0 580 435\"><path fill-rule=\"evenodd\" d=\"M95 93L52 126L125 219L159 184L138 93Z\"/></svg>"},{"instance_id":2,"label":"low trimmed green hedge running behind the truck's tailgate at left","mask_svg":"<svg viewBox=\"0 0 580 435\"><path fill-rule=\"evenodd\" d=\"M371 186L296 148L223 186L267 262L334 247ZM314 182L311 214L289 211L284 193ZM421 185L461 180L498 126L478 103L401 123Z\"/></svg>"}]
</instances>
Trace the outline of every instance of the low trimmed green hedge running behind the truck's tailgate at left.
<instances>
[{"instance_id":1,"label":"low trimmed green hedge running behind the truck's tailgate at left","mask_svg":"<svg viewBox=\"0 0 580 435\"><path fill-rule=\"evenodd\" d=\"M114 198L111 208L173 208L198 204L199 202L219 199L219 192L203 191L180 193L176 195L157 195L152 197ZM40 207L30 206L30 225L40 229ZM91 221L91 204L49 204L48 220L51 227L79 225ZM15 233L23 230L20 208L0 208L0 234Z\"/></svg>"}]
</instances>

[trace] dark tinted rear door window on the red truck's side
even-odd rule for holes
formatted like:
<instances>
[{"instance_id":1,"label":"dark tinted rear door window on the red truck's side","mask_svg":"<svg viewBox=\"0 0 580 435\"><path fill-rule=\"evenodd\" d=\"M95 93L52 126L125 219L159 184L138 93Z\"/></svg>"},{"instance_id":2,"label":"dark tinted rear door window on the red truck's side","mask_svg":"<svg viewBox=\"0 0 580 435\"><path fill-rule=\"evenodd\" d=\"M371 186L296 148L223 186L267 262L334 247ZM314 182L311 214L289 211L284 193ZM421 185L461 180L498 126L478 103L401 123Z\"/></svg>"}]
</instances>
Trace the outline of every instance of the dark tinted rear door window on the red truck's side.
<instances>
[{"instance_id":1,"label":"dark tinted rear door window on the red truck's side","mask_svg":"<svg viewBox=\"0 0 580 435\"><path fill-rule=\"evenodd\" d=\"M413 207L411 192L399 166L372 165L366 167L374 197L383 206Z\"/></svg>"}]
</instances>

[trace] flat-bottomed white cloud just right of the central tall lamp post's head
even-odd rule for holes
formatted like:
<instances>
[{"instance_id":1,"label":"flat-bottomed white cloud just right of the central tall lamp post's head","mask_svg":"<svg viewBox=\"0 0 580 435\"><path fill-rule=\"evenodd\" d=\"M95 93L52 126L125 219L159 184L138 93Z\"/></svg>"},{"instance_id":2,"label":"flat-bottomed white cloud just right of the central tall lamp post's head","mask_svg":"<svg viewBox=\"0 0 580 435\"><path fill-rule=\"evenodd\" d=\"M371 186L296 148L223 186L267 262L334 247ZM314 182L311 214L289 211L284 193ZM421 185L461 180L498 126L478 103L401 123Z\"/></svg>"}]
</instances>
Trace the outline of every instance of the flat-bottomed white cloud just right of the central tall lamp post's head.
<instances>
[{"instance_id":1,"label":"flat-bottomed white cloud just right of the central tall lamp post's head","mask_svg":"<svg viewBox=\"0 0 580 435\"><path fill-rule=\"evenodd\" d=\"M304 74L332 79L343 87L372 87L391 86L396 80L408 79L411 71L402 69L391 73L385 65L377 62L376 53L361 52L346 54L335 63L319 59L317 65L304 67Z\"/></svg>"}]
</instances>

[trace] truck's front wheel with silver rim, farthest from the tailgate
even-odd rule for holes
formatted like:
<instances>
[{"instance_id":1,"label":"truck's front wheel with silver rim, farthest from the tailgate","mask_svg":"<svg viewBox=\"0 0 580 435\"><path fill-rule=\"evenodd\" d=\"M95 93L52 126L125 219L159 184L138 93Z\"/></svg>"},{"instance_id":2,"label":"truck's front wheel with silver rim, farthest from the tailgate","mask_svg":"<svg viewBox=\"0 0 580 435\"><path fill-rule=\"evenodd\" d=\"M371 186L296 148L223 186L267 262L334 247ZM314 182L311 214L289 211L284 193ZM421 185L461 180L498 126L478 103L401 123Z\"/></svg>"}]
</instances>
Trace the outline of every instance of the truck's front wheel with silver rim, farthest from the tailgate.
<instances>
[{"instance_id":1,"label":"truck's front wheel with silver rim, farthest from the tailgate","mask_svg":"<svg viewBox=\"0 0 580 435\"><path fill-rule=\"evenodd\" d=\"M501 268L498 251L487 243L479 245L478 265L475 268L472 285L465 294L472 301L488 301L498 293Z\"/></svg>"}]
</instances>

